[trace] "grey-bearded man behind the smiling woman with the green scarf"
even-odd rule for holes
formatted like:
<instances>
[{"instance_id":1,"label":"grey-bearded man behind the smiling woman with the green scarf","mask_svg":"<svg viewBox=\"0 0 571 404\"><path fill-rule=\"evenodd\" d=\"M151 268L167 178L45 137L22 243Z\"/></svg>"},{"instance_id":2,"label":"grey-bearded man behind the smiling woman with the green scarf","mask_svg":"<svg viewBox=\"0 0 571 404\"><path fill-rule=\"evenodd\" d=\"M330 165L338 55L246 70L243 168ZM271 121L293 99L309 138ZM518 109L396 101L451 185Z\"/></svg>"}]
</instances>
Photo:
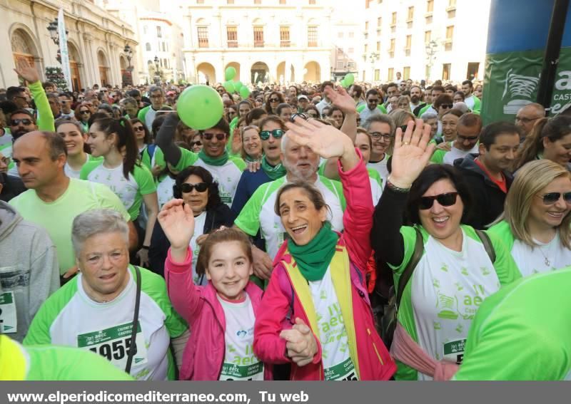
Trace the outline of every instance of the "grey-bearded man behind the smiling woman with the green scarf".
<instances>
[{"instance_id":1,"label":"grey-bearded man behind the smiling woman with the green scarf","mask_svg":"<svg viewBox=\"0 0 571 404\"><path fill-rule=\"evenodd\" d=\"M281 160L285 167L285 176L261 185L243 207L234 227L238 227L251 237L258 229L266 240L266 252L253 247L253 270L260 279L269 279L273 269L272 261L278 249L287 237L281 219L274 211L278 190L286 182L306 181L320 190L329 207L328 219L333 230L343 230L343 211L345 197L340 182L318 175L319 155L309 147L298 145L285 133L281 138Z\"/></svg>"}]
</instances>

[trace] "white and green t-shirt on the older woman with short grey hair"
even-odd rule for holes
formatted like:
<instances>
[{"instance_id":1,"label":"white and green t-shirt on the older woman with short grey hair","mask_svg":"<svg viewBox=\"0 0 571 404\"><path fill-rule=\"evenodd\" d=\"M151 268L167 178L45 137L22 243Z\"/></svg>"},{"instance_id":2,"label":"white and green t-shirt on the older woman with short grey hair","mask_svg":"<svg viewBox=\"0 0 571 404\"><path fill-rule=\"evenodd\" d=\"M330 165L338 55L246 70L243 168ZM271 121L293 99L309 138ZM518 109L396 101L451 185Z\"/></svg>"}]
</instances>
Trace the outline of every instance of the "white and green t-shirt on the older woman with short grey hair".
<instances>
[{"instance_id":1,"label":"white and green t-shirt on the older woman with short grey hair","mask_svg":"<svg viewBox=\"0 0 571 404\"><path fill-rule=\"evenodd\" d=\"M137 351L131 375L138 380L173 380L175 364L171 338L187 329L168 299L164 279L141 268L141 302L136 336ZM30 324L24 345L54 344L93 351L124 369L136 298L135 270L115 299L97 303L84 290L83 274L61 287L41 305Z\"/></svg>"}]
</instances>

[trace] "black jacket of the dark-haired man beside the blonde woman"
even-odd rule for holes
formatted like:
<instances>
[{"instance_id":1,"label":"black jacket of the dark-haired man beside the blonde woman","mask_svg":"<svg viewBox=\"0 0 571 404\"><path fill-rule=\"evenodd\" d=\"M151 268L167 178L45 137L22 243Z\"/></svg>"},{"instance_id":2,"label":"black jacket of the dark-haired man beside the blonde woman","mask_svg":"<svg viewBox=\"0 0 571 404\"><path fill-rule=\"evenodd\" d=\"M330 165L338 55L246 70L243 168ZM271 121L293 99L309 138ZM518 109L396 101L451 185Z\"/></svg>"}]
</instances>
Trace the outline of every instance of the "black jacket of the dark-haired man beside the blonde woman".
<instances>
[{"instance_id":1,"label":"black jacket of the dark-haired man beside the blonde woman","mask_svg":"<svg viewBox=\"0 0 571 404\"><path fill-rule=\"evenodd\" d=\"M504 211L505 193L500 190L490 177L474 161L475 154L454 160L454 167L462 173L462 177L470 188L473 197L473 206L464 224L470 224L475 229L484 229L497 219ZM506 187L509 190L513 177L509 172L503 172Z\"/></svg>"}]
</instances>

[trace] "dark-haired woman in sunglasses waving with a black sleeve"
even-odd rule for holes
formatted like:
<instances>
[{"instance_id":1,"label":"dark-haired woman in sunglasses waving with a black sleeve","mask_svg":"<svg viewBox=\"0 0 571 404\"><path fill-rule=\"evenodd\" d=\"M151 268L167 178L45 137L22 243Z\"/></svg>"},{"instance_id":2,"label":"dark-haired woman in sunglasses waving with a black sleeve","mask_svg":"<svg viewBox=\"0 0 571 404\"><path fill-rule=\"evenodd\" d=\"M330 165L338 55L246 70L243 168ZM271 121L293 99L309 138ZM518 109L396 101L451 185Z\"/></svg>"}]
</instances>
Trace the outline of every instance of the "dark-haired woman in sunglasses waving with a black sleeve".
<instances>
[{"instance_id":1,"label":"dark-haired woman in sunglasses waving with a black sleeve","mask_svg":"<svg viewBox=\"0 0 571 404\"><path fill-rule=\"evenodd\" d=\"M396 132L393 170L371 232L400 293L391 348L400 361L395 378L441 380L462 361L480 303L520 274L500 239L462 224L470 192L455 168L425 167L435 147L428 144L430 126L416 120L404 135ZM405 214L413 226L403 225Z\"/></svg>"}]
</instances>

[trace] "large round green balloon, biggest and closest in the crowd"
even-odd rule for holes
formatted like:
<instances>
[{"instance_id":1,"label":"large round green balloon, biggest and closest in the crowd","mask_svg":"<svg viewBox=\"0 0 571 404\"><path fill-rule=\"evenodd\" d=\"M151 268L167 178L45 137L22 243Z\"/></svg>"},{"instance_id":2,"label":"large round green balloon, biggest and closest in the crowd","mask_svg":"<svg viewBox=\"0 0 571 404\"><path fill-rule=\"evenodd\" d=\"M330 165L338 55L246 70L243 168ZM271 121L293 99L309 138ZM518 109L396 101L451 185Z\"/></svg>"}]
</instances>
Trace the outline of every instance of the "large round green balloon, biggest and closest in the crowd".
<instances>
[{"instance_id":1,"label":"large round green balloon, biggest and closest in the crowd","mask_svg":"<svg viewBox=\"0 0 571 404\"><path fill-rule=\"evenodd\" d=\"M210 86L196 85L186 88L176 103L178 116L189 128L212 128L224 114L222 98Z\"/></svg>"}]
</instances>

